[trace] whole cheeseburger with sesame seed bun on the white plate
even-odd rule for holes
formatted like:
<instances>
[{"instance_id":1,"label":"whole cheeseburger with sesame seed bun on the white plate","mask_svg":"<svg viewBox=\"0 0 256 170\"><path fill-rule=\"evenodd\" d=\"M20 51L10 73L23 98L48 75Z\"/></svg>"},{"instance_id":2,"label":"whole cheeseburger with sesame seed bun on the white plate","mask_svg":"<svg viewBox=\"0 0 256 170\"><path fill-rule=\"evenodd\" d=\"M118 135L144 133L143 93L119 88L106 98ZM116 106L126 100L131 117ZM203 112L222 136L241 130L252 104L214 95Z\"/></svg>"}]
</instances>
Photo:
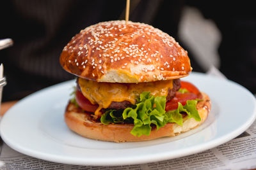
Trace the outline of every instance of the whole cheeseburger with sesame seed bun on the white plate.
<instances>
[{"instance_id":1,"label":"whole cheeseburger with sesame seed bun on the white plate","mask_svg":"<svg viewBox=\"0 0 256 170\"><path fill-rule=\"evenodd\" d=\"M77 76L65 122L86 138L119 143L176 136L202 124L211 109L207 94L180 80L192 70L188 52L147 24L86 27L63 48L60 64Z\"/></svg>"}]
</instances>

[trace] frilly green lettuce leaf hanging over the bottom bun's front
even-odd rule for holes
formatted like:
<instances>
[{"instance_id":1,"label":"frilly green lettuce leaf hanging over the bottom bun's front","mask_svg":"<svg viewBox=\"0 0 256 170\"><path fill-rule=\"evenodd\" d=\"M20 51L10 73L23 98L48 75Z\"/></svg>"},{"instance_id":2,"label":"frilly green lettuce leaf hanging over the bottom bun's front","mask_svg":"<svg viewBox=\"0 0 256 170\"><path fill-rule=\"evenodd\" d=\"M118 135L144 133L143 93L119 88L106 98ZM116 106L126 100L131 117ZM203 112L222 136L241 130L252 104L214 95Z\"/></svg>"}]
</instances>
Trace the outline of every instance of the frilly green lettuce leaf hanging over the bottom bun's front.
<instances>
[{"instance_id":1,"label":"frilly green lettuce leaf hanging over the bottom bun's front","mask_svg":"<svg viewBox=\"0 0 256 170\"><path fill-rule=\"evenodd\" d=\"M171 122L182 125L181 113L187 113L189 118L195 118L196 121L201 120L196 110L196 100L187 101L184 106L179 103L177 110L168 112L165 111L165 96L154 97L150 95L150 92L142 92L136 101L134 108L106 111L100 121L105 125L121 122L133 123L134 128L131 134L140 137L141 135L149 135L152 125L156 125L157 129Z\"/></svg>"}]
</instances>

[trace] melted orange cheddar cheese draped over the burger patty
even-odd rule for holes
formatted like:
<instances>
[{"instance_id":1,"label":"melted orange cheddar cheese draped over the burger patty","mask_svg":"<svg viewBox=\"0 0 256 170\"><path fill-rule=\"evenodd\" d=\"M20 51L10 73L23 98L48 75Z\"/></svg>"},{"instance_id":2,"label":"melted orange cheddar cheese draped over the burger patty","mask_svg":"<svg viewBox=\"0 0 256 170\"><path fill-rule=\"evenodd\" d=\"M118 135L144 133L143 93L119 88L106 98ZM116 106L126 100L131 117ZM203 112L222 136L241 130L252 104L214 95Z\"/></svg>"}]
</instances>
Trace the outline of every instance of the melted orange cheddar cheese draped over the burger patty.
<instances>
[{"instance_id":1,"label":"melted orange cheddar cheese draped over the burger patty","mask_svg":"<svg viewBox=\"0 0 256 170\"><path fill-rule=\"evenodd\" d=\"M108 108L112 101L129 101L135 104L141 92L151 92L153 96L167 96L173 81L154 81L147 83L98 83L97 81L78 78L81 91L92 104L99 104L95 115L101 116L100 110Z\"/></svg>"}]
</instances>

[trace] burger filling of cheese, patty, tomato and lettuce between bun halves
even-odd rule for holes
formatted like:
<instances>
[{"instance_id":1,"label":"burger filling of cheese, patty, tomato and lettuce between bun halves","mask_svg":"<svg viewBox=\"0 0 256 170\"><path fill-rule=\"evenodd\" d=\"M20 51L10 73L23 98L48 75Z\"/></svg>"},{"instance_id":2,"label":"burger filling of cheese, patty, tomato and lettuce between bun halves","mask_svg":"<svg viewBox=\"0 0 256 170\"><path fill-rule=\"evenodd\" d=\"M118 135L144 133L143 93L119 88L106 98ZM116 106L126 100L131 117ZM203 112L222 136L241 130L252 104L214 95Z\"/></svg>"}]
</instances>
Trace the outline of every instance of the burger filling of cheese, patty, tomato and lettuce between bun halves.
<instances>
[{"instance_id":1,"label":"burger filling of cheese, patty, tomato and lettuce between bun halves","mask_svg":"<svg viewBox=\"0 0 256 170\"><path fill-rule=\"evenodd\" d=\"M186 81L98 83L77 78L76 103L102 124L134 124L131 134L149 135L167 123L182 125L187 115L200 121L199 90Z\"/></svg>"}]
</instances>

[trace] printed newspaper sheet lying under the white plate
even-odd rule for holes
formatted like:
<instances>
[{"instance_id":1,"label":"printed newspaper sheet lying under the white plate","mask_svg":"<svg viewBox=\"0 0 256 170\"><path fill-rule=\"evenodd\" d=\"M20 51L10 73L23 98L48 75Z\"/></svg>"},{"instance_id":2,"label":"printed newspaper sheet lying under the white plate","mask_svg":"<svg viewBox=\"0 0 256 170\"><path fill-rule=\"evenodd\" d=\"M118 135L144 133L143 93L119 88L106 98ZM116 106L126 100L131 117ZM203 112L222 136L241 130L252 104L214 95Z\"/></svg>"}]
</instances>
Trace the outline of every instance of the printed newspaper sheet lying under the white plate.
<instances>
[{"instance_id":1,"label":"printed newspaper sheet lying under the white plate","mask_svg":"<svg viewBox=\"0 0 256 170\"><path fill-rule=\"evenodd\" d=\"M210 69L215 74L218 69ZM219 74L219 73L218 73ZM216 74L216 76L221 76ZM172 160L131 166L72 166L23 155L0 141L0 169L254 169L256 121L243 134L205 152Z\"/></svg>"}]
</instances>

